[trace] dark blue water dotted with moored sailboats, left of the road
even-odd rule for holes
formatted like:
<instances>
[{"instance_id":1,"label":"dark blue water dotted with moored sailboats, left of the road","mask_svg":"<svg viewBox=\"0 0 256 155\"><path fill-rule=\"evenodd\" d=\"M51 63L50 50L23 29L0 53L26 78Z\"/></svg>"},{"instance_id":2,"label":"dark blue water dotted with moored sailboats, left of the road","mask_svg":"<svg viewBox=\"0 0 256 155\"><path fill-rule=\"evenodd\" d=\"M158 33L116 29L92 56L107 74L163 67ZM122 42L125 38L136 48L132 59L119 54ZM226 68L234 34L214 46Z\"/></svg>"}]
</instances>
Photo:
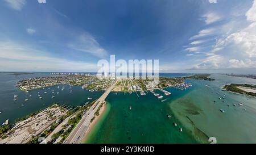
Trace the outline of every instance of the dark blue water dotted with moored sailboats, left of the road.
<instances>
[{"instance_id":1,"label":"dark blue water dotted with moored sailboats, left of the road","mask_svg":"<svg viewBox=\"0 0 256 155\"><path fill-rule=\"evenodd\" d=\"M81 86L69 86L64 85L64 91L61 91L63 87L60 85L60 89L57 86L48 87L46 89L31 90L29 93L19 90L16 87L16 82L20 79L27 79L32 77L48 77L51 76L47 73L43 74L20 74L16 76L11 73L0 73L0 124L5 122L6 119L10 120L10 123L14 123L16 118L23 118L24 116L47 108L53 103L66 104L67 106L76 107L89 102L87 98L97 99L103 93L102 91L90 92L84 90ZM72 87L72 93L70 93ZM69 90L68 90L69 89ZM54 90L55 94L52 94ZM44 94L47 91L47 94ZM42 100L38 99L38 92ZM59 92L59 94L56 94ZM14 101L14 95L18 95L18 99ZM31 95L31 97L30 97ZM55 96L55 98L52 98ZM28 98L29 100L24 101Z\"/></svg>"}]
</instances>

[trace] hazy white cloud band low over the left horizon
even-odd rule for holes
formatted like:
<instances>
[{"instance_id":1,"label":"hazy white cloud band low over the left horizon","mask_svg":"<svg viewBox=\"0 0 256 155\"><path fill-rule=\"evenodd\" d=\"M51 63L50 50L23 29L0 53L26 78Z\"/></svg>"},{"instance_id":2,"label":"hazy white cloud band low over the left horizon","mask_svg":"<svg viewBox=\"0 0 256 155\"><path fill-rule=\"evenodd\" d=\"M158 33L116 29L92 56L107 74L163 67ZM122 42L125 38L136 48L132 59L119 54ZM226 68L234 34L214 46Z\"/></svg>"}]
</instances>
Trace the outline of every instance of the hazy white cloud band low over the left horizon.
<instances>
[{"instance_id":1,"label":"hazy white cloud band low over the left horizon","mask_svg":"<svg viewBox=\"0 0 256 155\"><path fill-rule=\"evenodd\" d=\"M96 64L55 58L51 54L38 49L25 47L15 43L0 43L1 71L73 71L93 72Z\"/></svg>"}]
</instances>

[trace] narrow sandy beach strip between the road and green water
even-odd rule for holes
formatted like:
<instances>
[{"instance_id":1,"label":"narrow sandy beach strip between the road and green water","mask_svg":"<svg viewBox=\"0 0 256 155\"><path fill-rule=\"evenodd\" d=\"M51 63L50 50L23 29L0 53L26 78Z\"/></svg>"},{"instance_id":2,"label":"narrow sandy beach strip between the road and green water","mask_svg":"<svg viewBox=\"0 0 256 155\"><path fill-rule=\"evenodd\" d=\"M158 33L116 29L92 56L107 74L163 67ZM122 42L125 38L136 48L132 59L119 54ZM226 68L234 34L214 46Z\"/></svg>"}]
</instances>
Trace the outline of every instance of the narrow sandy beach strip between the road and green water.
<instances>
[{"instance_id":1,"label":"narrow sandy beach strip between the road and green water","mask_svg":"<svg viewBox=\"0 0 256 155\"><path fill-rule=\"evenodd\" d=\"M90 133L92 133L93 129L98 124L98 121L102 118L102 115L105 114L106 106L107 106L106 104L102 105L101 110L99 112L100 115L96 116L95 119L93 120L93 122L90 123L87 131L85 132L85 135L82 137L82 141L81 141L82 144L84 144L85 141L88 139L88 136L90 135Z\"/></svg>"}]
</instances>

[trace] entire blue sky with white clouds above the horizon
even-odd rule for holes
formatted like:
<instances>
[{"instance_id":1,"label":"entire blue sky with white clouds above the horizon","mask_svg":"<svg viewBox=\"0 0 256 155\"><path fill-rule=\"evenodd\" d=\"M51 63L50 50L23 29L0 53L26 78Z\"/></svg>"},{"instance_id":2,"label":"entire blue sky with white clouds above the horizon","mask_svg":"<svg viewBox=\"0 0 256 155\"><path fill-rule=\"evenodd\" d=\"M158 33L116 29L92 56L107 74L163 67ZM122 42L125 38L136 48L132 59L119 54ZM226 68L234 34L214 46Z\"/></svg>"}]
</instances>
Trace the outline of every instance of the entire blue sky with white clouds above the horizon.
<instances>
[{"instance_id":1,"label":"entire blue sky with white clouds above the horizon","mask_svg":"<svg viewBox=\"0 0 256 155\"><path fill-rule=\"evenodd\" d=\"M115 55L159 59L160 72L256 73L253 0L1 1L0 71L96 72Z\"/></svg>"}]
</instances>

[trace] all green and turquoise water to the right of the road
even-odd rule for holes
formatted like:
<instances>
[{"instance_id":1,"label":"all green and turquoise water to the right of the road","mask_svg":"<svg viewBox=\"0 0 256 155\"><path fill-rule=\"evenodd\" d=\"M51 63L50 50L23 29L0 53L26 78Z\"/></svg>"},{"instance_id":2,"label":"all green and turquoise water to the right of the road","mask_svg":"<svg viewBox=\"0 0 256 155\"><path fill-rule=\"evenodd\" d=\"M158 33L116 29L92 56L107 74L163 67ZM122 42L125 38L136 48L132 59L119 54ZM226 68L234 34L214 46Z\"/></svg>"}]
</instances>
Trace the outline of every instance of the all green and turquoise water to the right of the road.
<instances>
[{"instance_id":1,"label":"all green and turquoise water to the right of the road","mask_svg":"<svg viewBox=\"0 0 256 155\"><path fill-rule=\"evenodd\" d=\"M166 102L150 93L110 94L105 114L85 143L209 143L209 137L216 137L217 143L256 143L256 99L221 91L227 83L256 84L256 80L218 74L212 78L216 81L188 79L193 86L183 91L167 88L172 95L164 96ZM224 94L225 99L218 99Z\"/></svg>"}]
</instances>

